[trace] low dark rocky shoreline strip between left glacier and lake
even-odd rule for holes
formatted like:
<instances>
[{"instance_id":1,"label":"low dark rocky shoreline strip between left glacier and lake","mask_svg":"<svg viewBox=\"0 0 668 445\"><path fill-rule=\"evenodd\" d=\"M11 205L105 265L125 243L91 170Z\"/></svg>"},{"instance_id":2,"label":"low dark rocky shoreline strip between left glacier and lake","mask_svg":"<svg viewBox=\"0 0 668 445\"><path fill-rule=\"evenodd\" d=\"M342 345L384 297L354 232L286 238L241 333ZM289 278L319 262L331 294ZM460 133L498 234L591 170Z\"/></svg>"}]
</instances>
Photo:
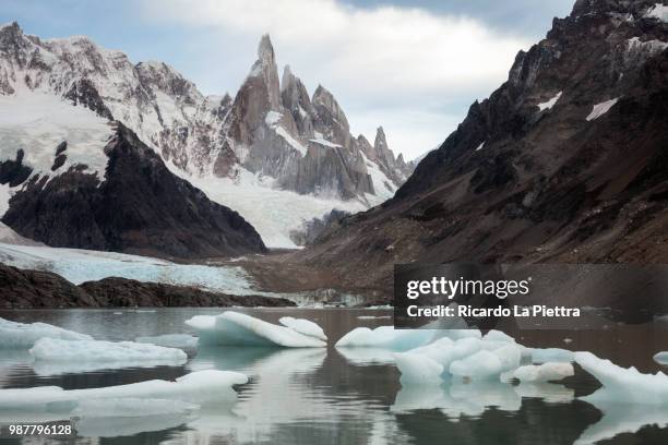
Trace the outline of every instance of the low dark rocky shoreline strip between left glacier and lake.
<instances>
[{"instance_id":1,"label":"low dark rocky shoreline strip between left glacier and lake","mask_svg":"<svg viewBox=\"0 0 668 445\"><path fill-rule=\"evenodd\" d=\"M74 286L41 270L0 264L0 308L163 308L163 306L291 306L283 298L227 296L204 290L124 278L105 278Z\"/></svg>"}]
</instances>

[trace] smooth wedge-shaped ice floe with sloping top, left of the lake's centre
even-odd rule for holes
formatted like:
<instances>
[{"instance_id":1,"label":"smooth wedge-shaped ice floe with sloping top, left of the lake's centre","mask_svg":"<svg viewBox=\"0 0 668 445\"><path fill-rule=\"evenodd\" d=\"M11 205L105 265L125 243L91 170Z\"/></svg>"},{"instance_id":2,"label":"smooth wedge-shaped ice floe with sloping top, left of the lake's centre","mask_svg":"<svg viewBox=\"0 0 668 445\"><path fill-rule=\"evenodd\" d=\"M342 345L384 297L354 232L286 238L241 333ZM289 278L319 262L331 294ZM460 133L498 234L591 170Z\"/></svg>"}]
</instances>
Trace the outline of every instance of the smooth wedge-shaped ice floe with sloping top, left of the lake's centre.
<instances>
[{"instance_id":1,"label":"smooth wedge-shaped ice floe with sloping top, left of the lake's centre","mask_svg":"<svg viewBox=\"0 0 668 445\"><path fill-rule=\"evenodd\" d=\"M198 332L202 345L276 346L321 348L326 342L247 314L227 311L219 315L196 315L186 324Z\"/></svg>"}]
</instances>

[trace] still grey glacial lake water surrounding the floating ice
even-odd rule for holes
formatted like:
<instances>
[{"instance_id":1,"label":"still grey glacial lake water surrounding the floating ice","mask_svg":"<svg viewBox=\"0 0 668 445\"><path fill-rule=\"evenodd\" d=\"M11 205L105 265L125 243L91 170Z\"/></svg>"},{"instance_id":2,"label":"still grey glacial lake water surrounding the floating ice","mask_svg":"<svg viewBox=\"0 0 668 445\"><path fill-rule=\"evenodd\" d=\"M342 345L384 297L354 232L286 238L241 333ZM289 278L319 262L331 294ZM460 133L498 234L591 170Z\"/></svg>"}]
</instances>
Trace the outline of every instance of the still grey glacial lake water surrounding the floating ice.
<instances>
[{"instance_id":1,"label":"still grey glacial lake water surrounding the floating ice","mask_svg":"<svg viewBox=\"0 0 668 445\"><path fill-rule=\"evenodd\" d=\"M99 418L86 437L8 444L667 444L668 408L624 405L601 412L578 400L599 387L588 374L561 384L449 382L402 387L389 354L361 348L337 350L334 342L358 326L392 324L390 310L234 309L276 322L281 316L319 323L330 338L322 349L216 347L188 351L180 366L59 371L33 365L26 351L0 349L0 387L56 385L93 388L174 380L193 371L239 371L251 377L239 386L235 405L188 416ZM109 309L0 311L23 323L45 322L90 334L96 339L133 340L140 336L192 333L183 321L224 309ZM666 322L656 322L666 323ZM655 324L617 325L580 333L524 330L518 342L532 347L589 350L615 363L657 372L652 360L668 350L668 330ZM568 338L568 339L566 339ZM564 339L566 339L564 342ZM665 412L663 412L665 411ZM16 419L12 417L16 416ZM38 419L38 414L35 414ZM26 414L0 411L0 422L26 421ZM657 425L656 423L663 423ZM99 437L91 441L90 437Z\"/></svg>"}]
</instances>

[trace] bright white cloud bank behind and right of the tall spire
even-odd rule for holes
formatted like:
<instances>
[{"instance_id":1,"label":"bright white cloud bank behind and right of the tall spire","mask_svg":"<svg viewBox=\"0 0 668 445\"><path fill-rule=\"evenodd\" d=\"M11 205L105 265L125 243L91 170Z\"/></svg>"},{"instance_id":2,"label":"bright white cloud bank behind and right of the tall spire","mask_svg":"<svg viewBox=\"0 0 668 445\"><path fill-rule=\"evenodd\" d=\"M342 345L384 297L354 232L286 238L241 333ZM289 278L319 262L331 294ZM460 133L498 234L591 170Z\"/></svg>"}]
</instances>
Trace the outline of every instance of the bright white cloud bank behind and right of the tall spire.
<instances>
[{"instance_id":1,"label":"bright white cloud bank behind and right of the tall spire","mask_svg":"<svg viewBox=\"0 0 668 445\"><path fill-rule=\"evenodd\" d=\"M213 52L203 73L205 85L212 71L250 61L260 35L270 33L279 61L289 62L311 92L318 83L325 85L354 129L370 139L375 127L383 124L393 148L407 158L432 148L456 124L428 110L443 109L450 101L472 103L491 93L506 79L517 50L529 44L474 19L415 8L362 9L334 0L200 0L195 4L143 0L143 15L152 22L208 29L214 40L202 43ZM420 116L425 120L416 118Z\"/></svg>"}]
</instances>

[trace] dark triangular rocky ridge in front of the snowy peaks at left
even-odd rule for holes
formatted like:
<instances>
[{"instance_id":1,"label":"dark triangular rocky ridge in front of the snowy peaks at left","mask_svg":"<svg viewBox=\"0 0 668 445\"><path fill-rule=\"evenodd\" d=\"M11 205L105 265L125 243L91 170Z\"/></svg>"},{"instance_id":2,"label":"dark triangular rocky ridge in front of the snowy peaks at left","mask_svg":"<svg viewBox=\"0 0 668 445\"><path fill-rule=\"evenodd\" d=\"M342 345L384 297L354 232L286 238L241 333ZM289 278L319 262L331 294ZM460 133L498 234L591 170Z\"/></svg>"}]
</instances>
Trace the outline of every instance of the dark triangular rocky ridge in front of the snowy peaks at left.
<instances>
[{"instance_id":1,"label":"dark triangular rocky ridge in front of the snowy peaks at left","mask_svg":"<svg viewBox=\"0 0 668 445\"><path fill-rule=\"evenodd\" d=\"M11 199L2 222L51 246L180 258L265 252L250 224L171 173L123 125L105 153L102 183L80 167L48 181L35 176ZM0 183L25 177L23 168L20 156L3 163Z\"/></svg>"}]
</instances>

